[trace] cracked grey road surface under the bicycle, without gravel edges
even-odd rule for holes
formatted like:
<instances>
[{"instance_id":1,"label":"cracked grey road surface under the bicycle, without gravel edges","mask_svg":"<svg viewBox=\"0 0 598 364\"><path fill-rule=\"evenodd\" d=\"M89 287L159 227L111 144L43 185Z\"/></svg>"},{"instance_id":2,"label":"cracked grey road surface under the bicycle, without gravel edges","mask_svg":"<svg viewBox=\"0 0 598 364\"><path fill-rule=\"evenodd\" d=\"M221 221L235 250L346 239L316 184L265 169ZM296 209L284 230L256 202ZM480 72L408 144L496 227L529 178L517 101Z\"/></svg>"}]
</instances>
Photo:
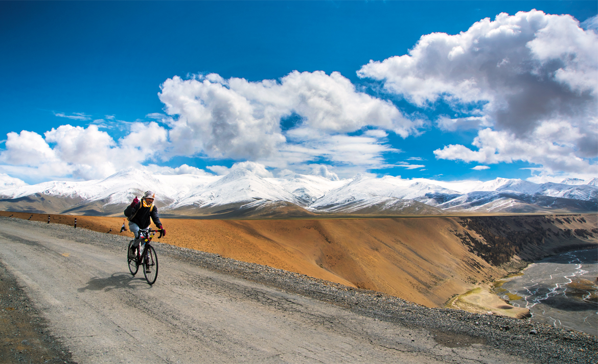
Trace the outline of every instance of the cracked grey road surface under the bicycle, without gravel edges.
<instances>
[{"instance_id":1,"label":"cracked grey road surface under the bicycle, without gravel edges","mask_svg":"<svg viewBox=\"0 0 598 364\"><path fill-rule=\"evenodd\" d=\"M172 256L158 255L158 279L149 286L141 270L131 276L124 249L65 236L41 224L3 221L0 262L74 362L527 362L483 344L441 345L426 329L361 316Z\"/></svg>"}]
</instances>

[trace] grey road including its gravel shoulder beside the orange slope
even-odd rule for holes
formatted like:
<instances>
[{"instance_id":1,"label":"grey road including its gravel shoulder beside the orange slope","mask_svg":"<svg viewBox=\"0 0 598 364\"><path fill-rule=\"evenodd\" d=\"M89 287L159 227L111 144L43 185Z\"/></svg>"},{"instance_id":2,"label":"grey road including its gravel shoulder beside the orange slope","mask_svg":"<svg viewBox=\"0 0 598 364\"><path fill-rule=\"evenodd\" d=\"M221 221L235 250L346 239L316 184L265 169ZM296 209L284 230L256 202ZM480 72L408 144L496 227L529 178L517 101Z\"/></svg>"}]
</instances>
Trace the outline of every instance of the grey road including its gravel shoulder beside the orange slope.
<instances>
[{"instance_id":1,"label":"grey road including its gravel shoulder beside the orange slope","mask_svg":"<svg viewBox=\"0 0 598 364\"><path fill-rule=\"evenodd\" d=\"M44 362L42 348L49 362L78 363L598 362L591 335L425 308L157 239L149 286L127 270L128 241L0 218L2 282L18 283L0 284L0 359ZM23 325L38 329L17 334Z\"/></svg>"}]
</instances>

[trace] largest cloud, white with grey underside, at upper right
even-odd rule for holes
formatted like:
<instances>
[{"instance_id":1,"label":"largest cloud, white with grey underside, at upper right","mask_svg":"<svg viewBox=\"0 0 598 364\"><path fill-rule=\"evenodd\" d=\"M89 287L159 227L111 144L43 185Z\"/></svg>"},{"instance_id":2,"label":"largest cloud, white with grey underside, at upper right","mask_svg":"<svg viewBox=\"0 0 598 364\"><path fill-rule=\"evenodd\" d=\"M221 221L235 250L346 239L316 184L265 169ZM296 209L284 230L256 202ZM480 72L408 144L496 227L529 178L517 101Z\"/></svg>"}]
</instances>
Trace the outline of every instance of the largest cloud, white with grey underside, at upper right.
<instances>
[{"instance_id":1,"label":"largest cloud, white with grey underside, at upper right","mask_svg":"<svg viewBox=\"0 0 598 364\"><path fill-rule=\"evenodd\" d=\"M421 108L443 100L465 114L438 118L441 129L480 130L478 150L449 145L437 158L580 172L598 155L595 22L584 30L569 15L502 13L456 35L423 35L408 54L371 60L358 75Z\"/></svg>"}]
</instances>

